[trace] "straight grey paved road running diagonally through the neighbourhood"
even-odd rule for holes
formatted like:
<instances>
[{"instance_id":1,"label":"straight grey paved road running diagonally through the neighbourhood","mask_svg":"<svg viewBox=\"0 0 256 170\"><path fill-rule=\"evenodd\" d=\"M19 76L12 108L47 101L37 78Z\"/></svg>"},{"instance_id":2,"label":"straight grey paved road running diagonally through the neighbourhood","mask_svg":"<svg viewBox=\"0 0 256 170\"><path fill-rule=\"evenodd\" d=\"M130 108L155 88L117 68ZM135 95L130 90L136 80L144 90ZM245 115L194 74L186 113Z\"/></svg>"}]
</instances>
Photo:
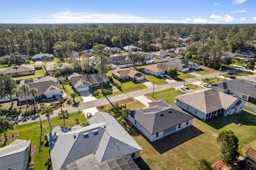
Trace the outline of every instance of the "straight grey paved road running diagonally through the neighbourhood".
<instances>
[{"instance_id":1,"label":"straight grey paved road running diagonally through the neighbourhood","mask_svg":"<svg viewBox=\"0 0 256 170\"><path fill-rule=\"evenodd\" d=\"M189 79L182 80L179 82L168 83L168 84L164 84L161 86L155 86L155 92L162 91L167 88L178 87L183 84L195 83L195 82L201 81L203 78L215 77L215 76L218 77L219 72L215 72L210 75L189 78ZM102 98L102 99L97 99L97 100L89 101L89 102L85 102L85 103L79 103L77 106L68 106L68 107L65 107L64 109L67 109L68 112L75 112L78 110L84 110L84 109L89 109L92 107L102 106L104 104L108 104L109 102L116 102L116 101L120 101L120 100L124 100L124 99L134 98L134 97L148 94L148 93L153 93L153 87L145 88L143 90L138 90L138 91L134 91L134 92L130 92L130 93L124 93L124 94L119 94L119 95L115 95L115 96L110 96L109 98ZM55 110L54 114L51 115L51 117L57 117L59 112L60 112L60 110ZM41 119L47 119L47 118L45 116L41 116ZM15 120L15 123L16 123L16 125L21 125L21 124L27 124L27 123L32 123L32 122L36 122L36 121L39 121L39 118L37 116L31 116L31 117L18 118L17 120Z\"/></svg>"}]
</instances>

